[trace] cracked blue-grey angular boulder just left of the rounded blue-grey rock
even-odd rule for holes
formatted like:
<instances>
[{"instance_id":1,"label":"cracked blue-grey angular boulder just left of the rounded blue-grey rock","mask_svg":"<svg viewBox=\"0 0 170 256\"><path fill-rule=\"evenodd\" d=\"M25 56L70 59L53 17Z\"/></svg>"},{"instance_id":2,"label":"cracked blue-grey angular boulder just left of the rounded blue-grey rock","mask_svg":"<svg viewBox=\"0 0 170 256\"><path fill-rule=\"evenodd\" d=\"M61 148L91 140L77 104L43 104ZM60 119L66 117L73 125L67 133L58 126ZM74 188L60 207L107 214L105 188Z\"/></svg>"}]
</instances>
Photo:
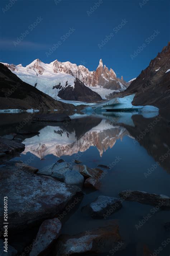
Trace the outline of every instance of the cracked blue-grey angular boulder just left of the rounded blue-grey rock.
<instances>
[{"instance_id":1,"label":"cracked blue-grey angular boulder just left of the rounded blue-grey rock","mask_svg":"<svg viewBox=\"0 0 170 256\"><path fill-rule=\"evenodd\" d=\"M37 174L47 175L57 178L57 180L64 180L64 173L69 171L69 164L65 161L56 162L40 169Z\"/></svg>"}]
</instances>

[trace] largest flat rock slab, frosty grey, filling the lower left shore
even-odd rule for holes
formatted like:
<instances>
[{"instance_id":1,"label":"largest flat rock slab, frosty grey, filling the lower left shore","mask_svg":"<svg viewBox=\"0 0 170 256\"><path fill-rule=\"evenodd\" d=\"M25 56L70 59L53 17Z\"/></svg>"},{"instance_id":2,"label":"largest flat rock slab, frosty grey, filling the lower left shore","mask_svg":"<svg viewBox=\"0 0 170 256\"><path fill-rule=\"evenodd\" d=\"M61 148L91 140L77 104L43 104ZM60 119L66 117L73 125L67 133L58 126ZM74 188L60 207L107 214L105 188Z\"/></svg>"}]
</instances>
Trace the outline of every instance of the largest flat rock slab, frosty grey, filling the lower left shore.
<instances>
[{"instance_id":1,"label":"largest flat rock slab, frosty grey, filling the lower left shore","mask_svg":"<svg viewBox=\"0 0 170 256\"><path fill-rule=\"evenodd\" d=\"M0 168L0 202L8 197L8 230L19 231L60 214L75 197L83 195L77 186L42 177L15 165ZM0 229L4 209L0 204Z\"/></svg>"}]
</instances>

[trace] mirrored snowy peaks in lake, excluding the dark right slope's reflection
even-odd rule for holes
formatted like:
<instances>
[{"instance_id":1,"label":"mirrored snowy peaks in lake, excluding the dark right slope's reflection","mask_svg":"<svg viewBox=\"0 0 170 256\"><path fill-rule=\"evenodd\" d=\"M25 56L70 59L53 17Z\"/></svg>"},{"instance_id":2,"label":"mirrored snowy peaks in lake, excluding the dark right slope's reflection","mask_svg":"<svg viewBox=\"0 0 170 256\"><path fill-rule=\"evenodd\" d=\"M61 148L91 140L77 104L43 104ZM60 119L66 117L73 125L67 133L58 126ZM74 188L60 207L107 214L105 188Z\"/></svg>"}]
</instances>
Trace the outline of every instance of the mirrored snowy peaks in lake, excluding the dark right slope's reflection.
<instances>
[{"instance_id":1,"label":"mirrored snowy peaks in lake, excluding the dark right slope's reflection","mask_svg":"<svg viewBox=\"0 0 170 256\"><path fill-rule=\"evenodd\" d=\"M31 152L39 158L49 154L60 157L84 152L95 146L102 156L118 139L122 140L123 136L129 135L126 128L93 117L73 119L68 125L46 126L39 132L38 136L24 141L23 154Z\"/></svg>"}]
</instances>

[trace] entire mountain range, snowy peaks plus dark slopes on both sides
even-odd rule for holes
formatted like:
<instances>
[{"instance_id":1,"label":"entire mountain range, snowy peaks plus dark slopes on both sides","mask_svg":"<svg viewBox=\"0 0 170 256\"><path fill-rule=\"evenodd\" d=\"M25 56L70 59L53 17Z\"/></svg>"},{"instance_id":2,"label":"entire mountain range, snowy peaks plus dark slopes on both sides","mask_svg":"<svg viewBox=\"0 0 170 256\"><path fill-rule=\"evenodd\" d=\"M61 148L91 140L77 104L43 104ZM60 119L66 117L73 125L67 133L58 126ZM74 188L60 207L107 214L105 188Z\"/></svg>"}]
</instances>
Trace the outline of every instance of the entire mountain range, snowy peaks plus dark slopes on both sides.
<instances>
[{"instance_id":1,"label":"entire mountain range, snowy peaks plus dark slopes on both sides","mask_svg":"<svg viewBox=\"0 0 170 256\"><path fill-rule=\"evenodd\" d=\"M0 105L5 109L19 106L21 109L62 109L61 99L67 103L96 103L131 94L135 94L134 106L170 107L170 42L137 78L128 83L123 77L117 78L112 69L103 66L101 59L96 71L57 60L45 64L36 59L26 67L3 64L0 64ZM21 84L19 88L18 83ZM8 91L12 93L9 95ZM65 106L66 109L70 107Z\"/></svg>"}]
</instances>

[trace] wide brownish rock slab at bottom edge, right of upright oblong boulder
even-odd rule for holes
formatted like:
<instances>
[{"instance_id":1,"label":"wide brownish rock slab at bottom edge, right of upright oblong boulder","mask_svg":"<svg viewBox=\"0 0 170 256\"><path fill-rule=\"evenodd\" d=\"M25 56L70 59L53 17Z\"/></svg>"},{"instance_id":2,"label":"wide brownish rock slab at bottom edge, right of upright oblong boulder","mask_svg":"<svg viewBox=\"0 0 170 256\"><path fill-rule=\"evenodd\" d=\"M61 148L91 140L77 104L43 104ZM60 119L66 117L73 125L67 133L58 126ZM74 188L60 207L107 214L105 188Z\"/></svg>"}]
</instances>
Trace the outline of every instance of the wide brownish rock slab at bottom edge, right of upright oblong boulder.
<instances>
[{"instance_id":1,"label":"wide brownish rock slab at bottom edge, right of upright oblong boulder","mask_svg":"<svg viewBox=\"0 0 170 256\"><path fill-rule=\"evenodd\" d=\"M57 240L56 256L93 255L106 252L108 247L121 244L118 226L107 226L76 235L62 234Z\"/></svg>"}]
</instances>

